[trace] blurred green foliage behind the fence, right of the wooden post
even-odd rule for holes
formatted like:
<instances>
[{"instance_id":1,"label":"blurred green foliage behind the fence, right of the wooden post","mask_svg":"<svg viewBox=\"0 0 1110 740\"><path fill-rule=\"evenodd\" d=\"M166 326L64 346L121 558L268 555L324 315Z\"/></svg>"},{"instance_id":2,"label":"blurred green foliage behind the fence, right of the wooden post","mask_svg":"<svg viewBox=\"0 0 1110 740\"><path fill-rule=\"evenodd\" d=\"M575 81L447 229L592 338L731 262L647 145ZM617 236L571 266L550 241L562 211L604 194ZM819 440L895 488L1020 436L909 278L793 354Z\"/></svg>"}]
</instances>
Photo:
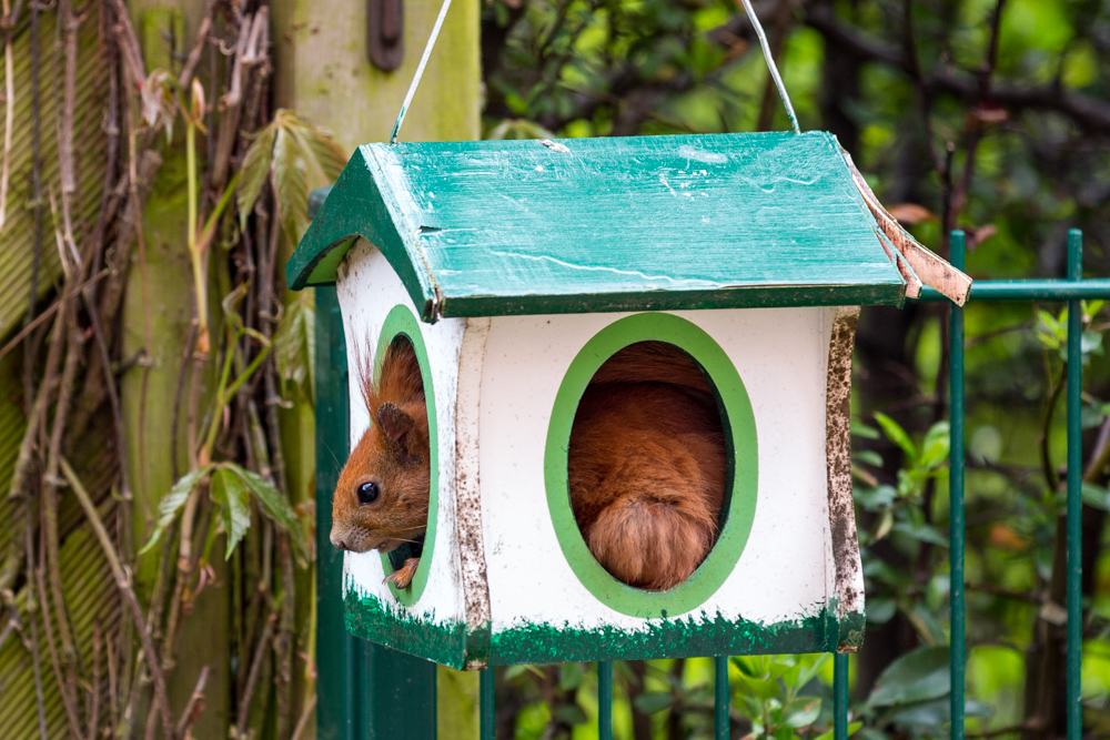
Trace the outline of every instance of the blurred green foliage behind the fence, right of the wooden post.
<instances>
[{"instance_id":1,"label":"blurred green foliage behind the fence, right of the wooden post","mask_svg":"<svg viewBox=\"0 0 1110 740\"><path fill-rule=\"evenodd\" d=\"M837 135L915 235L968 234L976 278L1062 277L1067 230L1110 267L1110 3L764 0L801 128ZM491 139L787 130L730 0L492 0L482 61ZM869 307L857 337L856 498L868 630L852 731L946 737L946 312ZM967 310L968 737L1062 737L1066 337L1058 305ZM1083 697L1110 737L1107 312L1084 306ZM710 737L709 659L615 667L618 738ZM733 736L825 736L824 657L733 659ZM498 737L596 736L591 667L498 675Z\"/></svg>"}]
</instances>

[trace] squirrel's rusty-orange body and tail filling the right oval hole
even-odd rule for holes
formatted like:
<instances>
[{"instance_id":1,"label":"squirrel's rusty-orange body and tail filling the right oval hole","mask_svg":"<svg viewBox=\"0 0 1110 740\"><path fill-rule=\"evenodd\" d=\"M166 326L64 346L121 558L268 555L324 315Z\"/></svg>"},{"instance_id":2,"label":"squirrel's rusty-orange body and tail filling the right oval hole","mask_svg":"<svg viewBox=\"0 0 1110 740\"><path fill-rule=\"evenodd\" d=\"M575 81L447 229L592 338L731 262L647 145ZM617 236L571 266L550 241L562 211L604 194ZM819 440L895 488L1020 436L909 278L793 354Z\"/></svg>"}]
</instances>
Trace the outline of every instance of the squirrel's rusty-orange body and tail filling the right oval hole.
<instances>
[{"instance_id":1,"label":"squirrel's rusty-orange body and tail filling the right oval hole","mask_svg":"<svg viewBox=\"0 0 1110 740\"><path fill-rule=\"evenodd\" d=\"M571 430L571 506L589 551L630 586L686 580L716 540L726 466L720 414L694 361L659 342L618 352Z\"/></svg>"}]
</instances>

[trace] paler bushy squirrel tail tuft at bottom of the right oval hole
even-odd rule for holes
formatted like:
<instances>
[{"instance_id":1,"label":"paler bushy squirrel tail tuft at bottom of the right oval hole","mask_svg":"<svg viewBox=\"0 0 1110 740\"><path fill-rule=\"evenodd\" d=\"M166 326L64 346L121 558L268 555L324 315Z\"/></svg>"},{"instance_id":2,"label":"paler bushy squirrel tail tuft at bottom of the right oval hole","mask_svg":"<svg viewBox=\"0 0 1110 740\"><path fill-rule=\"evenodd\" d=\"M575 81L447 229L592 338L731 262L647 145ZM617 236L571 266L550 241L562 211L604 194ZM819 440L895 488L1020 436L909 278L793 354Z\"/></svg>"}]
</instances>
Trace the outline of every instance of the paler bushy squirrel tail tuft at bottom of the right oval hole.
<instances>
[{"instance_id":1,"label":"paler bushy squirrel tail tuft at bottom of the right oval hole","mask_svg":"<svg viewBox=\"0 0 1110 740\"><path fill-rule=\"evenodd\" d=\"M613 501L589 527L587 545L617 579L664 590L687 578L705 559L717 523L700 496L639 490Z\"/></svg>"}]
</instances>

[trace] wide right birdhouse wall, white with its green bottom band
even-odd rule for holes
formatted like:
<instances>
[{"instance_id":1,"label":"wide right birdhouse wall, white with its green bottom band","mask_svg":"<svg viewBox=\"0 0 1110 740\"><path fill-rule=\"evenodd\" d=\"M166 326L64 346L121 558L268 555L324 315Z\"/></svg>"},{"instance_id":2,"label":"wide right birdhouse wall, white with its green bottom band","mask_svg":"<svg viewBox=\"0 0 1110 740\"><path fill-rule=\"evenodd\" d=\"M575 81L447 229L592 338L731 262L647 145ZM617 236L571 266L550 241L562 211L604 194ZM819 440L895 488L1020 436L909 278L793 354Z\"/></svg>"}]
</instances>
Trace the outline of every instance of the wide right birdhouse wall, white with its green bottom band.
<instances>
[{"instance_id":1,"label":"wide right birdhouse wall, white with its green bottom band","mask_svg":"<svg viewBox=\"0 0 1110 740\"><path fill-rule=\"evenodd\" d=\"M797 652L836 643L826 393L837 308L670 315L724 351L750 403L757 449L747 452L757 453L757 491L735 567L693 607L669 608L666 598L615 580L602 594L584 585L549 511L548 434L575 357L628 314L495 317L485 339L478 445L492 662ZM750 440L734 442L739 462Z\"/></svg>"}]
</instances>

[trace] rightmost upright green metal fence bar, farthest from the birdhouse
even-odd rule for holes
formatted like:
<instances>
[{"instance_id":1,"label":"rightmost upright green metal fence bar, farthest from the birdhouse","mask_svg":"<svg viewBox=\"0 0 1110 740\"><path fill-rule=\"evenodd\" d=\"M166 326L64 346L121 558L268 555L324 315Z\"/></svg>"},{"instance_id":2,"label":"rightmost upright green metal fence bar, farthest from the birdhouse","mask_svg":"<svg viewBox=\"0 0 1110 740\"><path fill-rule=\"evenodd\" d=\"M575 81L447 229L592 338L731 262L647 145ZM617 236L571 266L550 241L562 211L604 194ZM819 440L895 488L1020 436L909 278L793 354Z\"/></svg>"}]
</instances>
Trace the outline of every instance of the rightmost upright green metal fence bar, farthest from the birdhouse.
<instances>
[{"instance_id":1,"label":"rightmost upright green metal fence bar, farthest from the birdhouse","mask_svg":"<svg viewBox=\"0 0 1110 740\"><path fill-rule=\"evenodd\" d=\"M1083 278L1083 234L1068 232L1068 280ZM1068 301L1068 740L1082 734L1082 484L1083 438L1080 414L1083 389L1082 306Z\"/></svg>"}]
</instances>

